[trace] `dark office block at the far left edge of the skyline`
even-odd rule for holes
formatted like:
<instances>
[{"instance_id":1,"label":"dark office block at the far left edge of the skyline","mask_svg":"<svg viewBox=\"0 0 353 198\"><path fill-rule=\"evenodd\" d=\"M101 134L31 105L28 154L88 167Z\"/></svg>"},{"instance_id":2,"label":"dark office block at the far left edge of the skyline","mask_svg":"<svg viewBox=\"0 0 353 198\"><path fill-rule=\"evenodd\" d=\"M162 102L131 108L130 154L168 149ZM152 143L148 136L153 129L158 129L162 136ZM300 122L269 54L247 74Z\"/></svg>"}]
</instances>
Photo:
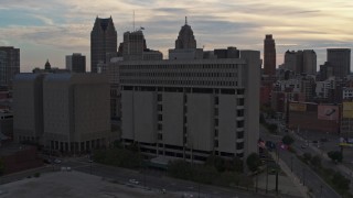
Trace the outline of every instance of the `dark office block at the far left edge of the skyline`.
<instances>
[{"instance_id":1,"label":"dark office block at the far left edge of the skyline","mask_svg":"<svg viewBox=\"0 0 353 198\"><path fill-rule=\"evenodd\" d=\"M20 73L20 48L0 46L0 86L12 86L15 74Z\"/></svg>"}]
</instances>

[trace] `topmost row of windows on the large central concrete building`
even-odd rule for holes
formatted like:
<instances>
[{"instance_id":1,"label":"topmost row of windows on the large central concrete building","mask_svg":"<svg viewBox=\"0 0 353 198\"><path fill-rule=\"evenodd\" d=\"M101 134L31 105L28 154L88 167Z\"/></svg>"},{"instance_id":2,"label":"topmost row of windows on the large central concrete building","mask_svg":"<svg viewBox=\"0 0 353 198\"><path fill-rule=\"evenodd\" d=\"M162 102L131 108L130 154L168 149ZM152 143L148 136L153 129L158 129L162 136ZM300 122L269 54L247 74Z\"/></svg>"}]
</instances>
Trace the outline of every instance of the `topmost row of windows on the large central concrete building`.
<instances>
[{"instance_id":1,"label":"topmost row of windows on the large central concrete building","mask_svg":"<svg viewBox=\"0 0 353 198\"><path fill-rule=\"evenodd\" d=\"M238 66L235 64L182 64L182 65L120 65L120 70L124 69L220 69L220 68L227 68L227 69L237 69Z\"/></svg>"}]
</instances>

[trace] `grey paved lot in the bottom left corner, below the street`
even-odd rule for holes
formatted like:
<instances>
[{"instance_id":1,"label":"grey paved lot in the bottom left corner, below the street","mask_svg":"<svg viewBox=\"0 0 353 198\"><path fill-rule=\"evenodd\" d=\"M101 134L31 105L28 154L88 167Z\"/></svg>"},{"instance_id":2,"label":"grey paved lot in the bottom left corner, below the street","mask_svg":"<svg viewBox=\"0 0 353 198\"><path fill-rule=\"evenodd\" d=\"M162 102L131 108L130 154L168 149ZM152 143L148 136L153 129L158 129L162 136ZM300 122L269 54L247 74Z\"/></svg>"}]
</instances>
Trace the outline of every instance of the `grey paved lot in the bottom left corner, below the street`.
<instances>
[{"instance_id":1,"label":"grey paved lot in the bottom left corner, below the street","mask_svg":"<svg viewBox=\"0 0 353 198\"><path fill-rule=\"evenodd\" d=\"M131 180L132 182L132 180ZM135 179L135 183L137 180ZM1 198L21 197L180 197L151 191L135 185L115 184L98 176L79 172L51 172L40 177L23 178L2 185Z\"/></svg>"}]
</instances>

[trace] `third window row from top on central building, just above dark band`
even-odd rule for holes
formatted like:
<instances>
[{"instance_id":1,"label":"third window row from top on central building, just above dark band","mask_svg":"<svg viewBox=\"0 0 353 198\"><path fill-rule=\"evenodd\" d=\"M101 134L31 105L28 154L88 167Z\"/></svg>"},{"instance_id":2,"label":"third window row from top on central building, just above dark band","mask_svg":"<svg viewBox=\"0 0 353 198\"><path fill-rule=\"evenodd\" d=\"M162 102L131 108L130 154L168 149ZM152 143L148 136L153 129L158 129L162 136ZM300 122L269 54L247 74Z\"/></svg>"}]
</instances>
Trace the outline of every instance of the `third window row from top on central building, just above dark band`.
<instances>
[{"instance_id":1,"label":"third window row from top on central building, just above dark band","mask_svg":"<svg viewBox=\"0 0 353 198\"><path fill-rule=\"evenodd\" d=\"M238 81L211 81L211 80L156 80L156 79L121 79L121 84L142 85L193 85L193 86L238 86Z\"/></svg>"}]
</instances>

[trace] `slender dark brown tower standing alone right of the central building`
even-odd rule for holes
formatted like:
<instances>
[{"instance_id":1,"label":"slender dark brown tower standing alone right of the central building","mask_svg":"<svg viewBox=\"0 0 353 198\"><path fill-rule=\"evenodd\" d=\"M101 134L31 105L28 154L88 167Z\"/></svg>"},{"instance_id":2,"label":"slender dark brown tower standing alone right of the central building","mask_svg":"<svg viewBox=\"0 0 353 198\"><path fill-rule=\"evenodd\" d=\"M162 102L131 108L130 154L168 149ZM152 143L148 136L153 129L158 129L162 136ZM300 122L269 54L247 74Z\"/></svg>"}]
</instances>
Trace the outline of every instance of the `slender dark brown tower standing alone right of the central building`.
<instances>
[{"instance_id":1,"label":"slender dark brown tower standing alone right of the central building","mask_svg":"<svg viewBox=\"0 0 353 198\"><path fill-rule=\"evenodd\" d=\"M264 69L265 75L276 76L276 44L272 34L264 40Z\"/></svg>"}]
</instances>

